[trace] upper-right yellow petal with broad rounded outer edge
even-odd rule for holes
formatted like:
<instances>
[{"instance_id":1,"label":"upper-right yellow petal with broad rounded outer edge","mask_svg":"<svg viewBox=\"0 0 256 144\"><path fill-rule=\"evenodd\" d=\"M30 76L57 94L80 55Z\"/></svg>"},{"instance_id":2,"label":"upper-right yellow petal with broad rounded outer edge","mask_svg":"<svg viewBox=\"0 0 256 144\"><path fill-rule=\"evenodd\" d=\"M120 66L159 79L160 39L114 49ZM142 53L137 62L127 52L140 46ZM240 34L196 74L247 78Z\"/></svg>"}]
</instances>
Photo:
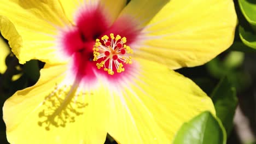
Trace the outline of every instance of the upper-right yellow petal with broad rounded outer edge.
<instances>
[{"instance_id":1,"label":"upper-right yellow petal with broad rounded outer edge","mask_svg":"<svg viewBox=\"0 0 256 144\"><path fill-rule=\"evenodd\" d=\"M171 69L201 65L228 49L236 23L232 0L172 0L143 29L135 54Z\"/></svg>"}]
</instances>

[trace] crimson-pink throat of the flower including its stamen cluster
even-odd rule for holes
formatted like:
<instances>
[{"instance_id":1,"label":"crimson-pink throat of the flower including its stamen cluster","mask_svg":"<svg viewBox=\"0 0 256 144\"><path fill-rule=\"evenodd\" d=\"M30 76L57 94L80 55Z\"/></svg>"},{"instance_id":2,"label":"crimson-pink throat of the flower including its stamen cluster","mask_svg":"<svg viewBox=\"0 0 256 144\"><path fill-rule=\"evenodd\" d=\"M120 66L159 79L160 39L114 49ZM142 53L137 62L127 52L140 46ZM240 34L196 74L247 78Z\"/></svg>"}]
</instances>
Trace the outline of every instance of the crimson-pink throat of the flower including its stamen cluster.
<instances>
[{"instance_id":1,"label":"crimson-pink throat of the flower including its stamen cluster","mask_svg":"<svg viewBox=\"0 0 256 144\"><path fill-rule=\"evenodd\" d=\"M78 79L90 81L100 74L116 80L132 69L128 45L136 41L140 29L128 17L110 25L106 16L100 6L79 11L75 26L62 34L63 51L73 58L72 73Z\"/></svg>"}]
</instances>

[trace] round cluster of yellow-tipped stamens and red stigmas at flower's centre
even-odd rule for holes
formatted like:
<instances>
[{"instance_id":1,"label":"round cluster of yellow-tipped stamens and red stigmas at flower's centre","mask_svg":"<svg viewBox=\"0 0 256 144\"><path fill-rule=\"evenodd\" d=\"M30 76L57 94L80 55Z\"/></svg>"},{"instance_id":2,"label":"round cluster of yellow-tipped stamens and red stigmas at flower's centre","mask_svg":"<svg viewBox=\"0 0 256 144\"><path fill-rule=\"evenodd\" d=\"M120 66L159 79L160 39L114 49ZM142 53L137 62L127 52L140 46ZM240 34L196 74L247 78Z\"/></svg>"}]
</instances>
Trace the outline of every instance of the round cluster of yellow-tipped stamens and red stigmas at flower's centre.
<instances>
[{"instance_id":1,"label":"round cluster of yellow-tipped stamens and red stigmas at flower's centre","mask_svg":"<svg viewBox=\"0 0 256 144\"><path fill-rule=\"evenodd\" d=\"M131 56L128 56L127 53L129 54L133 51L130 46L125 45L126 37L121 38L120 35L114 37L113 33L110 33L109 36L110 39L107 35L101 38L104 45L102 45L100 39L96 39L94 48L92 49L94 50L93 61L102 59L100 63L96 64L97 68L103 68L109 75L114 75L113 69L116 69L117 73L121 73L125 71L123 63L132 64Z\"/></svg>"}]
</instances>

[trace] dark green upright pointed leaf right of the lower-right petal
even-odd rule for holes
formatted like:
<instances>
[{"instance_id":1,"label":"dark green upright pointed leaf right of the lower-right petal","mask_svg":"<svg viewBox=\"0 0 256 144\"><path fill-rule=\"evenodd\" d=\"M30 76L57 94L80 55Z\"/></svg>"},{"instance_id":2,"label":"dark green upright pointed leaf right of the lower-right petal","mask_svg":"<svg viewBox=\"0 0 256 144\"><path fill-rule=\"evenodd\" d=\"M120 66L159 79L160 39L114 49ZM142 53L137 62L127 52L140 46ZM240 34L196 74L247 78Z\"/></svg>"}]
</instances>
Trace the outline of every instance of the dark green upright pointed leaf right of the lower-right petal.
<instances>
[{"instance_id":1,"label":"dark green upright pointed leaf right of the lower-right petal","mask_svg":"<svg viewBox=\"0 0 256 144\"><path fill-rule=\"evenodd\" d=\"M226 133L229 135L233 127L237 106L236 89L232 87L228 78L224 77L213 90L211 98L216 109L216 115L222 121Z\"/></svg>"}]
</instances>

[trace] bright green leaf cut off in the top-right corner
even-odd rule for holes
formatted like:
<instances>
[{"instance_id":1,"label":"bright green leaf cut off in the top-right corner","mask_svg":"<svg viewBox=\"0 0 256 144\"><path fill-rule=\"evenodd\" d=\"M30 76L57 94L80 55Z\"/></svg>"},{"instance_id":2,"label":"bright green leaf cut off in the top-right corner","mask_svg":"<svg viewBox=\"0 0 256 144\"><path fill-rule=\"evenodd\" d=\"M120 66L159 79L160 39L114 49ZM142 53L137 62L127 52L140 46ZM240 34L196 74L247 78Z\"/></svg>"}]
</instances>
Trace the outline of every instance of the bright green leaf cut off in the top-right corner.
<instances>
[{"instance_id":1,"label":"bright green leaf cut off in the top-right corner","mask_svg":"<svg viewBox=\"0 0 256 144\"><path fill-rule=\"evenodd\" d=\"M240 9L246 20L254 27L256 27L256 2L254 0L238 0Z\"/></svg>"}]
</instances>

